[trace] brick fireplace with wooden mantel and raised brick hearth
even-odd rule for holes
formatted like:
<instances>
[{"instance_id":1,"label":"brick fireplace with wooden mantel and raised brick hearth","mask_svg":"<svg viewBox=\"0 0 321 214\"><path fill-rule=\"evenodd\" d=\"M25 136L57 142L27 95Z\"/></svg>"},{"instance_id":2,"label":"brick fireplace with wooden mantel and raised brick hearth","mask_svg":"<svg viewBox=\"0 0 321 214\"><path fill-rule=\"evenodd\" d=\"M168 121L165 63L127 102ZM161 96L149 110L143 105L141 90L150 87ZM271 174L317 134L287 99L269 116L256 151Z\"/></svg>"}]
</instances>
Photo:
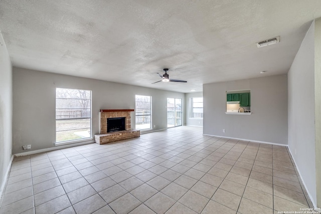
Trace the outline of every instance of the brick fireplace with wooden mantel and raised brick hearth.
<instances>
[{"instance_id":1,"label":"brick fireplace with wooden mantel and raised brick hearth","mask_svg":"<svg viewBox=\"0 0 321 214\"><path fill-rule=\"evenodd\" d=\"M140 136L139 130L131 129L130 125L130 112L134 109L101 109L100 110L100 130L99 134L95 134L95 141L97 144L105 144L116 142L120 140L126 140ZM108 123L107 118L125 118L125 130L107 132Z\"/></svg>"}]
</instances>

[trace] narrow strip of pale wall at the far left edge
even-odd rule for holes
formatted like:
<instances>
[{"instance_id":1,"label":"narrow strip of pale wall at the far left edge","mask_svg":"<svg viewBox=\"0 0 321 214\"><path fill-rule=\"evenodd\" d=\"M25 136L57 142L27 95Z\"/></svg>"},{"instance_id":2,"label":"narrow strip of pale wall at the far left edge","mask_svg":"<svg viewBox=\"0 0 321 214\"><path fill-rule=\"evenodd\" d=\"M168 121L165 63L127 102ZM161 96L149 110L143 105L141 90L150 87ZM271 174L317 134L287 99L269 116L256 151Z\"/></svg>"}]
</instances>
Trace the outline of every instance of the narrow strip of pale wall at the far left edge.
<instances>
[{"instance_id":1,"label":"narrow strip of pale wall at the far left edge","mask_svg":"<svg viewBox=\"0 0 321 214\"><path fill-rule=\"evenodd\" d=\"M0 205L12 158L12 65L0 34Z\"/></svg>"}]
</instances>

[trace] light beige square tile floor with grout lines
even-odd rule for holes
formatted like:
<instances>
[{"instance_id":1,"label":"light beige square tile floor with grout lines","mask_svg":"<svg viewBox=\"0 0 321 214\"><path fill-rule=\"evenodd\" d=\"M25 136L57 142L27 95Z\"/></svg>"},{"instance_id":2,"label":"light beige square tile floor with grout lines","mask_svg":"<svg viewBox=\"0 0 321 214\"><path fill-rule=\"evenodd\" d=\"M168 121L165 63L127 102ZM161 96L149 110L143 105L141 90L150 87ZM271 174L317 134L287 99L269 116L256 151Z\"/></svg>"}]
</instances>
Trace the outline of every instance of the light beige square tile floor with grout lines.
<instances>
[{"instance_id":1,"label":"light beige square tile floor with grout lines","mask_svg":"<svg viewBox=\"0 0 321 214\"><path fill-rule=\"evenodd\" d=\"M16 157L0 213L278 213L312 207L287 147L181 126Z\"/></svg>"}]
</instances>

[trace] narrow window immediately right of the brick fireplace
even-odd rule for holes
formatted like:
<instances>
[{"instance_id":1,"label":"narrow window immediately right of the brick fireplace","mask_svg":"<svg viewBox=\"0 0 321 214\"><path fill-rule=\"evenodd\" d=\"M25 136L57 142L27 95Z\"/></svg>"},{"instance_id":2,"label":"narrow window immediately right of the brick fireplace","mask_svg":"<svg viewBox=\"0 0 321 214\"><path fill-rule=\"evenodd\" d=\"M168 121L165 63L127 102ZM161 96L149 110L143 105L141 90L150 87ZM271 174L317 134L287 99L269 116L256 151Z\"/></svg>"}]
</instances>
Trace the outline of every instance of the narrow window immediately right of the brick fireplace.
<instances>
[{"instance_id":1,"label":"narrow window immediately right of the brick fireplace","mask_svg":"<svg viewBox=\"0 0 321 214\"><path fill-rule=\"evenodd\" d=\"M136 95L136 129L151 128L151 97Z\"/></svg>"}]
</instances>

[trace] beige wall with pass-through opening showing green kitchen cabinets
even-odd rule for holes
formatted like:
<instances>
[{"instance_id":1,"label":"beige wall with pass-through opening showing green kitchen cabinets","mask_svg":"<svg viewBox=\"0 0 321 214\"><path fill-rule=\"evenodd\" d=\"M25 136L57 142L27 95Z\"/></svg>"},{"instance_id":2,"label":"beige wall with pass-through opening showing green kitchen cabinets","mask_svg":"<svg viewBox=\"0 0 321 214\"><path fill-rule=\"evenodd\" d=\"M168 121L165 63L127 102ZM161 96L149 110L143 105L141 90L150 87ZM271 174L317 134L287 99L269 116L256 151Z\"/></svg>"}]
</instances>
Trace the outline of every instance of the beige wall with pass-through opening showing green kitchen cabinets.
<instances>
[{"instance_id":1,"label":"beige wall with pass-through opening showing green kitchen cabinets","mask_svg":"<svg viewBox=\"0 0 321 214\"><path fill-rule=\"evenodd\" d=\"M226 91L246 89L252 114L225 114ZM287 144L286 75L205 84L203 97L204 134Z\"/></svg>"}]
</instances>

